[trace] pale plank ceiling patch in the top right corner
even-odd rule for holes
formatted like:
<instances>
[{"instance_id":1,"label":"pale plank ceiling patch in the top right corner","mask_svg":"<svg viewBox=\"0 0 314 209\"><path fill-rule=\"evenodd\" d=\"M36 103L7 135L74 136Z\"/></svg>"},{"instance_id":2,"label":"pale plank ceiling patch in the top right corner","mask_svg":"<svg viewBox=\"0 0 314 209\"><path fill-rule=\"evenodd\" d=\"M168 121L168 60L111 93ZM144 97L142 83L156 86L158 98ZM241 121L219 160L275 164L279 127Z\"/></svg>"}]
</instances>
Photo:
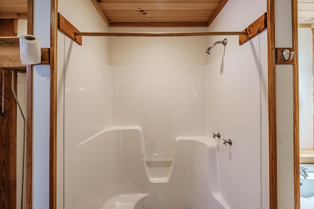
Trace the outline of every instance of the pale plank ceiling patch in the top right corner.
<instances>
[{"instance_id":1,"label":"pale plank ceiling patch in the top right corner","mask_svg":"<svg viewBox=\"0 0 314 209\"><path fill-rule=\"evenodd\" d=\"M314 26L314 0L298 0L298 23Z\"/></svg>"}]
</instances>

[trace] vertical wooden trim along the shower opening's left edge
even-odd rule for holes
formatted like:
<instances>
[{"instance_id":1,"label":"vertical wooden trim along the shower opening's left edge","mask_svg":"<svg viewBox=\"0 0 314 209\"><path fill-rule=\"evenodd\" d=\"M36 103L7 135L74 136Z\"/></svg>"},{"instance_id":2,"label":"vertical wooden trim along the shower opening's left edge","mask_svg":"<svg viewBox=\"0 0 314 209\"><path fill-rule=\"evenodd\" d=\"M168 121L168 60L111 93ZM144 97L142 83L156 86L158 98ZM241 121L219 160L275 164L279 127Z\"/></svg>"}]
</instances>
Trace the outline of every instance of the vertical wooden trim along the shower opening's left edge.
<instances>
[{"instance_id":1,"label":"vertical wooden trim along the shower opening's left edge","mask_svg":"<svg viewBox=\"0 0 314 209\"><path fill-rule=\"evenodd\" d=\"M49 142L49 209L57 208L57 24L58 0L51 0L50 28L50 142Z\"/></svg>"}]
</instances>

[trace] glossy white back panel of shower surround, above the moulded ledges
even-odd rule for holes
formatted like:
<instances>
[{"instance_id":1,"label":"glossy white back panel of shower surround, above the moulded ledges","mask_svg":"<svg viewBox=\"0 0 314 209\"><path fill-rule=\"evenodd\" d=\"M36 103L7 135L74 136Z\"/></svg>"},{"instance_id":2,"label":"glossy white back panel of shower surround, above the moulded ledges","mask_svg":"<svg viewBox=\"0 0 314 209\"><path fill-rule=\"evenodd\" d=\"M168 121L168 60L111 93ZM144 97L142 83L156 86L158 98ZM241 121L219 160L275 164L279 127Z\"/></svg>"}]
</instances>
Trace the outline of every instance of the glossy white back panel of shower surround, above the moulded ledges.
<instances>
[{"instance_id":1,"label":"glossy white back panel of shower surround, above the moulded ledges","mask_svg":"<svg viewBox=\"0 0 314 209\"><path fill-rule=\"evenodd\" d=\"M114 124L143 129L147 154L171 156L179 136L204 136L205 66L113 66Z\"/></svg>"}]
</instances>

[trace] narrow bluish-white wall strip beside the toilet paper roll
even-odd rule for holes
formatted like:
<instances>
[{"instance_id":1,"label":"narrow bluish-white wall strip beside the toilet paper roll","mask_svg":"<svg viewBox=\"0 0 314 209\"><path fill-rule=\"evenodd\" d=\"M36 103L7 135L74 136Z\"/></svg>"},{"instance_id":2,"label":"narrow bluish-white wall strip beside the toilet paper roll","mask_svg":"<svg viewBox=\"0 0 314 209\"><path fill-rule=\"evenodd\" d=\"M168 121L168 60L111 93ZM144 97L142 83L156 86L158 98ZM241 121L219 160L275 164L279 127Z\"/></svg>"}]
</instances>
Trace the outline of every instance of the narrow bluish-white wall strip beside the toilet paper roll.
<instances>
[{"instance_id":1,"label":"narrow bluish-white wall strip beside the toilet paper roll","mask_svg":"<svg viewBox=\"0 0 314 209\"><path fill-rule=\"evenodd\" d=\"M34 0L34 36L50 47L50 0ZM50 67L33 67L33 209L49 208Z\"/></svg>"}]
</instances>

